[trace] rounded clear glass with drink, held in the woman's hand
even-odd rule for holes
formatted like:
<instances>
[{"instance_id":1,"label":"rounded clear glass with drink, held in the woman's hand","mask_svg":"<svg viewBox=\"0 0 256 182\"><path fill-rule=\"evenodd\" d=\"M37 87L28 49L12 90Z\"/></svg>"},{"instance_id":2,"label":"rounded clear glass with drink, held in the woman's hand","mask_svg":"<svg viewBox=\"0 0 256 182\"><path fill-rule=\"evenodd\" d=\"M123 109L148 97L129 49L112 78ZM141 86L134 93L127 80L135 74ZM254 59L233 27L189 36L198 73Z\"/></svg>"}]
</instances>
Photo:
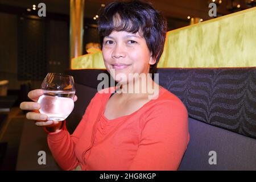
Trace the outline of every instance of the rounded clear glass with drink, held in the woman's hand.
<instances>
[{"instance_id":1,"label":"rounded clear glass with drink, held in the woman's hand","mask_svg":"<svg viewBox=\"0 0 256 182\"><path fill-rule=\"evenodd\" d=\"M40 113L48 115L48 120L65 120L74 109L73 77L62 73L48 73L41 89L44 90L44 94L38 100L41 106Z\"/></svg>"}]
</instances>

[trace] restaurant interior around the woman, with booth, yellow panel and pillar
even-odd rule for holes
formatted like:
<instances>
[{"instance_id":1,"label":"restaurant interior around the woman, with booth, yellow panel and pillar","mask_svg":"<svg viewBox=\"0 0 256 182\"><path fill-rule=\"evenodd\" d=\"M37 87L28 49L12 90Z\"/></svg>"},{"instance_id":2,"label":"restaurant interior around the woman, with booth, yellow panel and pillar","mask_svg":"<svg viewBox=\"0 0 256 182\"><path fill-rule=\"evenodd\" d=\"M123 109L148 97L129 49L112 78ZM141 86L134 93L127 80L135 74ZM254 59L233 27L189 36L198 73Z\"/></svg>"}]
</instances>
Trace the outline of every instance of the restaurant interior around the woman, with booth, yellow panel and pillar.
<instances>
[{"instance_id":1,"label":"restaurant interior around the woman, with booth, yellow panel and pillar","mask_svg":"<svg viewBox=\"0 0 256 182\"><path fill-rule=\"evenodd\" d=\"M19 106L47 73L71 75L79 100L67 127L76 129L106 73L97 19L110 2L0 0L0 170L61 170L47 134ZM179 170L256 170L256 1L149 2L167 20L159 84L188 109L191 141Z\"/></svg>"}]
</instances>

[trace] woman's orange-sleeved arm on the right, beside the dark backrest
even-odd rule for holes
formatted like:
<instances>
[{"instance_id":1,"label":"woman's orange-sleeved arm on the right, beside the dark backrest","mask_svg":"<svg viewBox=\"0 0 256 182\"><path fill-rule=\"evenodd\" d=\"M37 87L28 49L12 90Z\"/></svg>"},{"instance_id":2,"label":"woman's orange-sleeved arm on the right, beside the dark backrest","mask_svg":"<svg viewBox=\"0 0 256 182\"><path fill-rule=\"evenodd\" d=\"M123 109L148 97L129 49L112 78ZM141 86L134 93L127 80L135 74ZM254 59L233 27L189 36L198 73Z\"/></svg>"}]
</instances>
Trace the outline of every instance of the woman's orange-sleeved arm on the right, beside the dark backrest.
<instances>
[{"instance_id":1,"label":"woman's orange-sleeved arm on the right, beside the dark backrest","mask_svg":"<svg viewBox=\"0 0 256 182\"><path fill-rule=\"evenodd\" d=\"M176 170L187 148L188 113L183 104L165 101L148 111L130 170Z\"/></svg>"}]
</instances>

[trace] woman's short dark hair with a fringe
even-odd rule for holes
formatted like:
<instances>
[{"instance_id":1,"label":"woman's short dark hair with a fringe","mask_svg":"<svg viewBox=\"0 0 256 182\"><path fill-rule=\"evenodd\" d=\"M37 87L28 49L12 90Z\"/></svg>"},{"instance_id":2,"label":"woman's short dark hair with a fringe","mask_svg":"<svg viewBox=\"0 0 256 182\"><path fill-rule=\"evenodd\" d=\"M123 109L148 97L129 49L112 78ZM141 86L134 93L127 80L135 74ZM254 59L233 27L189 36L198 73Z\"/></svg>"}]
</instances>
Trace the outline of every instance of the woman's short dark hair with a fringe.
<instances>
[{"instance_id":1,"label":"woman's short dark hair with a fringe","mask_svg":"<svg viewBox=\"0 0 256 182\"><path fill-rule=\"evenodd\" d=\"M114 19L118 18L118 24ZM101 47L105 36L112 31L127 31L137 33L146 40L147 47L152 52L156 67L163 53L166 39L166 19L148 2L144 1L115 1L100 11L98 18L98 32Z\"/></svg>"}]
</instances>

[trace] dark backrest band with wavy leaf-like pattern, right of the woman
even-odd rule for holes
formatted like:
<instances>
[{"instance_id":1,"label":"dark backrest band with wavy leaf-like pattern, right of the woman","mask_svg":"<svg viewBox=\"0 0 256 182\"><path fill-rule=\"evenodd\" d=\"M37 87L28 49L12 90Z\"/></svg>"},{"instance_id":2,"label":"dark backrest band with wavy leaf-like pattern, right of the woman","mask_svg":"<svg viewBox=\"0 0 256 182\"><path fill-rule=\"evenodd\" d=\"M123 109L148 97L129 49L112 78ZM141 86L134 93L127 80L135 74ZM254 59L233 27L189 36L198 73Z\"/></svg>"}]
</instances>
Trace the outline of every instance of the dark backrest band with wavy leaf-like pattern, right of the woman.
<instances>
[{"instance_id":1,"label":"dark backrest band with wavy leaf-like pattern, right of the woman","mask_svg":"<svg viewBox=\"0 0 256 182\"><path fill-rule=\"evenodd\" d=\"M189 117L256 138L256 68L158 69Z\"/></svg>"}]
</instances>

